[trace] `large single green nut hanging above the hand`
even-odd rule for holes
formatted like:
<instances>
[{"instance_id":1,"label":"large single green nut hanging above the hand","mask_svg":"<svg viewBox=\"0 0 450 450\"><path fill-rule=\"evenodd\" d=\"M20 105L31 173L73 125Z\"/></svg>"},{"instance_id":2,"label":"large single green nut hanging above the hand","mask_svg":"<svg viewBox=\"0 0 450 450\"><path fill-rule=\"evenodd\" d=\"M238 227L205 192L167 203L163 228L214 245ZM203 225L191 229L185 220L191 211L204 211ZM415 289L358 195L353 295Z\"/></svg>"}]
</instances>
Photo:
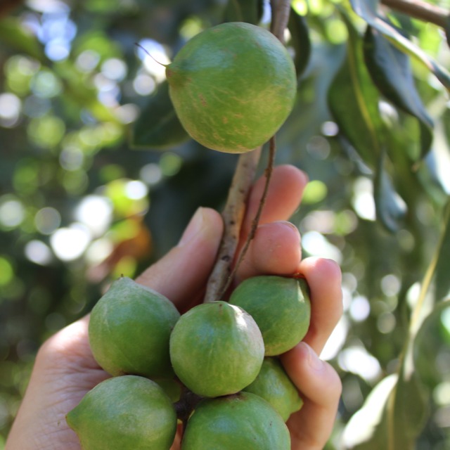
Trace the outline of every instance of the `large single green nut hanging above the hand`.
<instances>
[{"instance_id":1,"label":"large single green nut hanging above the hand","mask_svg":"<svg viewBox=\"0 0 450 450\"><path fill-rule=\"evenodd\" d=\"M297 75L285 46L250 23L221 23L190 39L166 68L176 115L207 148L245 153L293 110Z\"/></svg>"}]
</instances>

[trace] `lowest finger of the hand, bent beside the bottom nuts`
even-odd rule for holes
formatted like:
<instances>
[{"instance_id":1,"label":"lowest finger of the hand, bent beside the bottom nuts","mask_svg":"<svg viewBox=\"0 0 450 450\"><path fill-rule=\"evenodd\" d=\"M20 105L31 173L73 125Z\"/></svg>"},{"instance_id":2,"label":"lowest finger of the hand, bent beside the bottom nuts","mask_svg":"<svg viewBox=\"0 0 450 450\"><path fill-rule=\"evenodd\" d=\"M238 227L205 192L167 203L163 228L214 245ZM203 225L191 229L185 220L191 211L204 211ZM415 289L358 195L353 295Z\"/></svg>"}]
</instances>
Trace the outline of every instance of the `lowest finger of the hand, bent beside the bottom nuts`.
<instances>
[{"instance_id":1,"label":"lowest finger of the hand, bent beside the bottom nuts","mask_svg":"<svg viewBox=\"0 0 450 450\"><path fill-rule=\"evenodd\" d=\"M291 415L287 423L291 449L323 449L338 411L342 392L339 375L305 342L283 354L281 361L304 401L302 409Z\"/></svg>"}]
</instances>

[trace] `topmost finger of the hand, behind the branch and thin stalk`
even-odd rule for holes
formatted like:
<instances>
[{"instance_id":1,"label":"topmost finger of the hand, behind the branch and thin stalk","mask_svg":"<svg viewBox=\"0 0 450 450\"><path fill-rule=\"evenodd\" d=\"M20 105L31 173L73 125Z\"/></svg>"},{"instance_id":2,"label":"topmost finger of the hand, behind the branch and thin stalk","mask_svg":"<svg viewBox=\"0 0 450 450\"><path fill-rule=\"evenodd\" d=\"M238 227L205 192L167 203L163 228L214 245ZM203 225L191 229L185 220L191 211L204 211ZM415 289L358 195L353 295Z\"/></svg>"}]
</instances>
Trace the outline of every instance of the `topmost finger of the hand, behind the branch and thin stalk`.
<instances>
[{"instance_id":1,"label":"topmost finger of the hand, behind the branch and thin stalk","mask_svg":"<svg viewBox=\"0 0 450 450\"><path fill-rule=\"evenodd\" d=\"M300 169L297 169L297 167L291 165L274 167L259 224L288 220L300 205L307 181L307 175ZM262 176L257 180L250 192L241 233L243 238L248 235L251 229L252 221L258 210L259 200L261 200L264 191L265 182L266 178Z\"/></svg>"}]
</instances>

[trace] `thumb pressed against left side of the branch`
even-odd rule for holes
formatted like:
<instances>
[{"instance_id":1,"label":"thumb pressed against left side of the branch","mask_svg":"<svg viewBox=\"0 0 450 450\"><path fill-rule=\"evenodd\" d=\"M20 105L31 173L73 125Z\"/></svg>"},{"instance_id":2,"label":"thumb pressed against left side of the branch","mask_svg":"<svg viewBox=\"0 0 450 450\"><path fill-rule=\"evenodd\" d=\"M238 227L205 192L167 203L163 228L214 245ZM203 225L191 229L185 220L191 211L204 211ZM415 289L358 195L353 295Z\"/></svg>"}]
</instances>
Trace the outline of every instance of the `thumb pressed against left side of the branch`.
<instances>
[{"instance_id":1,"label":"thumb pressed against left side of the branch","mask_svg":"<svg viewBox=\"0 0 450 450\"><path fill-rule=\"evenodd\" d=\"M152 288L184 309L203 290L219 248L223 222L218 212L199 208L179 245L150 266L138 283Z\"/></svg>"}]
</instances>

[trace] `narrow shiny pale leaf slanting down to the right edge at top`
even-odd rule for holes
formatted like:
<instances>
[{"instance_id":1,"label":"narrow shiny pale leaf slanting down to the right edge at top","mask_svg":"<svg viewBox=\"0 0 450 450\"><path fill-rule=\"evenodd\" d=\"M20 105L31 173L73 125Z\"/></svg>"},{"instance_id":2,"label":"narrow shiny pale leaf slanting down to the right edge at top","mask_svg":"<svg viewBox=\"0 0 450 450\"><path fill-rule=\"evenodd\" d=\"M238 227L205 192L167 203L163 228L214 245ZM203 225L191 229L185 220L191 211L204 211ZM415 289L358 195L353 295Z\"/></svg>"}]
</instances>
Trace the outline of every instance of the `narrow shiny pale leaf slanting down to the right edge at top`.
<instances>
[{"instance_id":1,"label":"narrow shiny pale leaf slanting down to the right edge at top","mask_svg":"<svg viewBox=\"0 0 450 450\"><path fill-rule=\"evenodd\" d=\"M420 63L425 65L430 70L439 82L447 89L450 90L450 74L442 65L439 65L433 58L427 55L422 49L414 45L409 39L404 37L386 18L378 15L378 0L350 0L354 12L361 18L366 20L368 25L378 30L392 44L397 46L404 53L416 58Z\"/></svg>"}]
</instances>

